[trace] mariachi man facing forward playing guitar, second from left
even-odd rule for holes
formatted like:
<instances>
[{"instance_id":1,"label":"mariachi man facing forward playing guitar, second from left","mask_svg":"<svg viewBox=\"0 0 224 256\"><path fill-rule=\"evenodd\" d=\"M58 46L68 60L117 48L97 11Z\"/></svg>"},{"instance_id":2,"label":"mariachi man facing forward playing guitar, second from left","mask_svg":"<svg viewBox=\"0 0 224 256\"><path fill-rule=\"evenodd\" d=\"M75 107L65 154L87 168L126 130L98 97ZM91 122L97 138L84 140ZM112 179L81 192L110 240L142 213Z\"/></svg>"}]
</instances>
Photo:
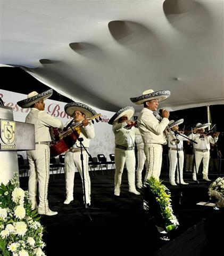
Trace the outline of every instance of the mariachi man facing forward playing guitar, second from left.
<instances>
[{"instance_id":1,"label":"mariachi man facing forward playing guitar, second from left","mask_svg":"<svg viewBox=\"0 0 224 256\"><path fill-rule=\"evenodd\" d=\"M80 128L79 138L82 138L81 142L83 146L88 149L89 142L91 139L95 137L94 125L92 122L88 121L87 118L91 118L96 115L96 111L85 105L84 103L79 102L70 102L64 106L65 112L73 117L73 122L71 127L75 127L76 125L82 124ZM81 145L80 141L76 141L74 145L69 149L67 153L65 153L64 157L64 167L65 167L65 183L66 183L66 199L64 204L70 204L73 201L73 188L74 188L74 172L77 167L81 180L82 187L84 191L84 182L85 182L85 195L84 195L84 203L86 207L90 206L91 203L91 181L88 172L88 154L83 149L83 164L84 164L84 181L82 177L82 166L81 166ZM86 198L86 202L85 202Z\"/></svg>"}]
</instances>

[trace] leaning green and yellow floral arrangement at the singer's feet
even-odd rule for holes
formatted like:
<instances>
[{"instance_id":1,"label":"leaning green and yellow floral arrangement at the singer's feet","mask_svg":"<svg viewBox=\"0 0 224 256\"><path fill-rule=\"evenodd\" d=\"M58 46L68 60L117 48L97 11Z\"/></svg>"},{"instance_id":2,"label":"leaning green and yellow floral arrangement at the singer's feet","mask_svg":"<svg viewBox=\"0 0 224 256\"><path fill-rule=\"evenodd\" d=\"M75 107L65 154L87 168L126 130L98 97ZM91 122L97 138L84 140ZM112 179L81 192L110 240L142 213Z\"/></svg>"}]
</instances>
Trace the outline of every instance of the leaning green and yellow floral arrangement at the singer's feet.
<instances>
[{"instance_id":1,"label":"leaning green and yellow floral arrangement at the singer's feet","mask_svg":"<svg viewBox=\"0 0 224 256\"><path fill-rule=\"evenodd\" d=\"M179 222L173 214L171 195L167 187L160 180L151 176L144 185L144 209L153 213L157 222L162 224L167 231L178 227ZM153 204L153 205L152 205Z\"/></svg>"}]
</instances>

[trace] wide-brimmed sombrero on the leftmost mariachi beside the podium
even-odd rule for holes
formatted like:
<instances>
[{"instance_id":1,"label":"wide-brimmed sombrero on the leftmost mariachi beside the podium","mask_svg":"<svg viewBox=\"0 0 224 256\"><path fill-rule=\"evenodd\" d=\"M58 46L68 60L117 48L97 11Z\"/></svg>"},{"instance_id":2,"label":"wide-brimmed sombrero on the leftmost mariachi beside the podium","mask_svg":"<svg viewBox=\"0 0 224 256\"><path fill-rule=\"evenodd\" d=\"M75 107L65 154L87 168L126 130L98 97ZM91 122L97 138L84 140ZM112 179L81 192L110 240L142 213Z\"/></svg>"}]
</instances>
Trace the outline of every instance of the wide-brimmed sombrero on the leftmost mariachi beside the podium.
<instances>
[{"instance_id":1,"label":"wide-brimmed sombrero on the leftmost mariachi beside the podium","mask_svg":"<svg viewBox=\"0 0 224 256\"><path fill-rule=\"evenodd\" d=\"M27 95L27 99L18 101L17 105L19 105L21 108L29 108L32 105L34 105L34 103L38 102L39 100L46 100L47 98L51 97L52 94L53 94L52 89L49 89L42 93L33 91Z\"/></svg>"}]
</instances>

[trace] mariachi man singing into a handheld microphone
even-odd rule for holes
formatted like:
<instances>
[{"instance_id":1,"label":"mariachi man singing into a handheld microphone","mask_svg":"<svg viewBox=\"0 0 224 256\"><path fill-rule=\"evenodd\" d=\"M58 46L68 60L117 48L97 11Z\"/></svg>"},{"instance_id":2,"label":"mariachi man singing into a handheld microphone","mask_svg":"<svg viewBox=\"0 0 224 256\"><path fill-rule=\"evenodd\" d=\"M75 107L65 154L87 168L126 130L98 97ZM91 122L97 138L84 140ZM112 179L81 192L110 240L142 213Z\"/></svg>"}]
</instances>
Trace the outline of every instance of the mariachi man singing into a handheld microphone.
<instances>
[{"instance_id":1,"label":"mariachi man singing into a handheld microphone","mask_svg":"<svg viewBox=\"0 0 224 256\"><path fill-rule=\"evenodd\" d=\"M143 104L143 109L138 116L138 127L144 142L144 151L146 156L146 174L145 181L153 175L160 178L162 166L163 145L167 144L165 128L169 123L169 111L162 109L161 122L153 115L153 112L159 107L159 102L167 99L170 91L146 90L142 95L130 98L137 105Z\"/></svg>"}]
</instances>

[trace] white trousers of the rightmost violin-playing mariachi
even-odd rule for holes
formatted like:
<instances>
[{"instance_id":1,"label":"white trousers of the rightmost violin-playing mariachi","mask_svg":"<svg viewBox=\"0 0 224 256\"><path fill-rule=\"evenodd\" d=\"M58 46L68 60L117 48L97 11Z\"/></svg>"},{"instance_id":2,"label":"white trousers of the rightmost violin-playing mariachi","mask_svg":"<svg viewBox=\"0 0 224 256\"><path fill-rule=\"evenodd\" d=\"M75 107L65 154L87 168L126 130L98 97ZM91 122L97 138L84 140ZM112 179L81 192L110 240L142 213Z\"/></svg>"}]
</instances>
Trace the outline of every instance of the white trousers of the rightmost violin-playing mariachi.
<instances>
[{"instance_id":1,"label":"white trousers of the rightmost violin-playing mariachi","mask_svg":"<svg viewBox=\"0 0 224 256\"><path fill-rule=\"evenodd\" d=\"M201 162L203 163L203 179L208 178L208 173L209 173L209 158L210 158L210 151L206 152L200 152L200 151L195 151L195 163L196 163L196 170L198 173L199 166ZM194 171L193 171L193 178L196 178L195 175L195 166L194 166Z\"/></svg>"}]
</instances>

